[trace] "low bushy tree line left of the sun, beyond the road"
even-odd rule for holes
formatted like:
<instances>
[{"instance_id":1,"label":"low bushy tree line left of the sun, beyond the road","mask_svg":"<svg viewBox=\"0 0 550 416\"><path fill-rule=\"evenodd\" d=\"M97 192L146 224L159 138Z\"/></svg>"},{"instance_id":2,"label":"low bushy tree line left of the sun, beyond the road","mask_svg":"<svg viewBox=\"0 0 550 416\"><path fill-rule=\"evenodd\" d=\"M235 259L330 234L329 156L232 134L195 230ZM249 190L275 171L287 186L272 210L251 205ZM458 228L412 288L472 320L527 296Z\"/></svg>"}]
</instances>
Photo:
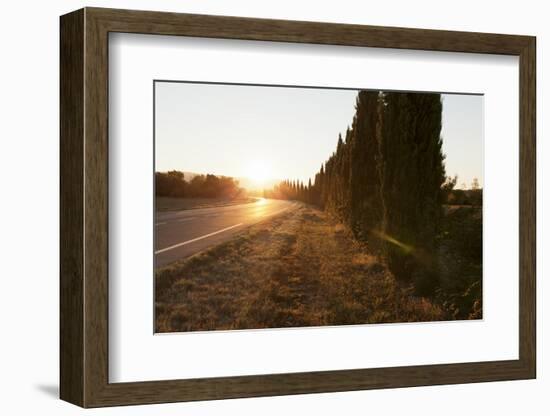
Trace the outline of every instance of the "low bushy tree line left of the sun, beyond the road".
<instances>
[{"instance_id":1,"label":"low bushy tree line left of the sun, beyond the road","mask_svg":"<svg viewBox=\"0 0 550 416\"><path fill-rule=\"evenodd\" d=\"M183 172L155 173L155 195L178 198L233 198L242 192L239 181L227 176L195 175L185 180Z\"/></svg>"}]
</instances>

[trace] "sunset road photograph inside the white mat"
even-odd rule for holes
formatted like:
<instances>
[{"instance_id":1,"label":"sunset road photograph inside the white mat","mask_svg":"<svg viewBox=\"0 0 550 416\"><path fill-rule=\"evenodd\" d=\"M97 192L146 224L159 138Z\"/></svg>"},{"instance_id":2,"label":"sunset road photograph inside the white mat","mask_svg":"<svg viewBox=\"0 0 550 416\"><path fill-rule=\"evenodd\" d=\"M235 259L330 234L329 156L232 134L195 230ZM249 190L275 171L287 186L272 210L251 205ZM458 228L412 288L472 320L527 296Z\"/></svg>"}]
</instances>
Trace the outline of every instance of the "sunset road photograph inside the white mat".
<instances>
[{"instance_id":1,"label":"sunset road photograph inside the white mat","mask_svg":"<svg viewBox=\"0 0 550 416\"><path fill-rule=\"evenodd\" d=\"M153 91L155 333L483 318L482 94Z\"/></svg>"}]
</instances>

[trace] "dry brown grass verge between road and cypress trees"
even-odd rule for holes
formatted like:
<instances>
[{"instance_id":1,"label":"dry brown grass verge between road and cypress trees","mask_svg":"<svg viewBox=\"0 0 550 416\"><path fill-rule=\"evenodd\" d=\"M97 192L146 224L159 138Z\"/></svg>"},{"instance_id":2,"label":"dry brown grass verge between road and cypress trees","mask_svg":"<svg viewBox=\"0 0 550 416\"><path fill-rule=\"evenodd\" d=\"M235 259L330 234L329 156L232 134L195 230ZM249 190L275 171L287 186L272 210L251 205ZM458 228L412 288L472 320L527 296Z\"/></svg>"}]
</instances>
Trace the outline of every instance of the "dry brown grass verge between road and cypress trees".
<instances>
[{"instance_id":1,"label":"dry brown grass verge between road and cypress trees","mask_svg":"<svg viewBox=\"0 0 550 416\"><path fill-rule=\"evenodd\" d=\"M159 270L156 295L157 332L448 319L307 207Z\"/></svg>"}]
</instances>

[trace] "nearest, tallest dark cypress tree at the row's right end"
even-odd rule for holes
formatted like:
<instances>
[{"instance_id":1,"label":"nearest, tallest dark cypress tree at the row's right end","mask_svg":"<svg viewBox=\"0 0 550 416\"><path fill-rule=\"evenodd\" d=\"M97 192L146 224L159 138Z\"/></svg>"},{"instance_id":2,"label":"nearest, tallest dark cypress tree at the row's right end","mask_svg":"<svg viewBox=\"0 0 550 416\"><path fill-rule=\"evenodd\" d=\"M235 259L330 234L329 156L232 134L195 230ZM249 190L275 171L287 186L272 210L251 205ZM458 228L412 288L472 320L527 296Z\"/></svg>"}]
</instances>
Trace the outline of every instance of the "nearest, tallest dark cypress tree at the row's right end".
<instances>
[{"instance_id":1,"label":"nearest, tallest dark cypress tree at the row's right end","mask_svg":"<svg viewBox=\"0 0 550 416\"><path fill-rule=\"evenodd\" d=\"M445 181L439 94L387 93L379 129L387 260L420 294L437 284L436 236Z\"/></svg>"}]
</instances>

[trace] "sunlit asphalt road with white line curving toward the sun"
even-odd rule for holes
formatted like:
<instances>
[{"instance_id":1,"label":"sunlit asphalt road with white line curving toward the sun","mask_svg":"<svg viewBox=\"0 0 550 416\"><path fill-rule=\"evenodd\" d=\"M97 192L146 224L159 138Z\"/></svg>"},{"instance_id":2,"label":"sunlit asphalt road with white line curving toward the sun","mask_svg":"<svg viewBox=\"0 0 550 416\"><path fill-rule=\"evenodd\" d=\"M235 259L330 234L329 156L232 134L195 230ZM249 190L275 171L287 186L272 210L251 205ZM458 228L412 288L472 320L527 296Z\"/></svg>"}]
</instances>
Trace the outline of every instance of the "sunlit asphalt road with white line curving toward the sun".
<instances>
[{"instance_id":1,"label":"sunlit asphalt road with white line curving toward the sun","mask_svg":"<svg viewBox=\"0 0 550 416\"><path fill-rule=\"evenodd\" d=\"M275 199L225 207L159 212L155 216L155 268L230 240L246 227L298 203Z\"/></svg>"}]
</instances>

